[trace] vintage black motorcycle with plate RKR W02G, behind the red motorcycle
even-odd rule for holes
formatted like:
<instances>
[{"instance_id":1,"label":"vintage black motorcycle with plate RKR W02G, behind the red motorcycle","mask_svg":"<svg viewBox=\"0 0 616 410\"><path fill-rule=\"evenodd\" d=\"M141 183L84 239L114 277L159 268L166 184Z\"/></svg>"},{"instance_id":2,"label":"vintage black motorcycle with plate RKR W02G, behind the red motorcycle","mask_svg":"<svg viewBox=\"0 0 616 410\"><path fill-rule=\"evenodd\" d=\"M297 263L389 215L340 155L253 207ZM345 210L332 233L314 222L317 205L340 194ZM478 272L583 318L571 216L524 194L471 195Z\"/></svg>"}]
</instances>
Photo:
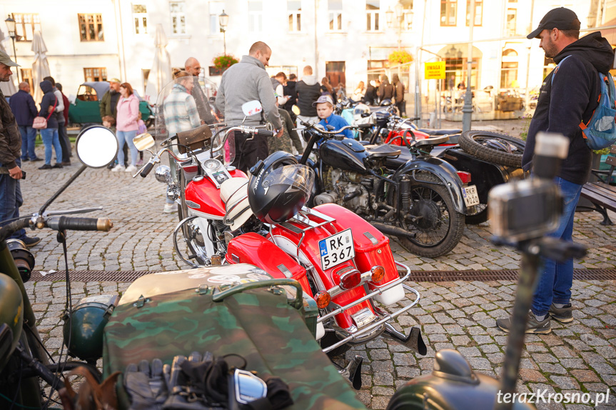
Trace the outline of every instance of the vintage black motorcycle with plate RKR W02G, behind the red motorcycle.
<instances>
[{"instance_id":1,"label":"vintage black motorcycle with plate RKR W02G, behind the red motorcycle","mask_svg":"<svg viewBox=\"0 0 616 410\"><path fill-rule=\"evenodd\" d=\"M447 136L413 141L410 158L402 159L400 147L364 145L340 136L345 129L365 129L370 124L340 130L304 126L308 145L300 162L317 176L314 205L344 206L383 233L398 236L418 256L442 256L458 244L464 216L475 203L465 195L453 166L422 152ZM308 158L312 152L316 161Z\"/></svg>"}]
</instances>

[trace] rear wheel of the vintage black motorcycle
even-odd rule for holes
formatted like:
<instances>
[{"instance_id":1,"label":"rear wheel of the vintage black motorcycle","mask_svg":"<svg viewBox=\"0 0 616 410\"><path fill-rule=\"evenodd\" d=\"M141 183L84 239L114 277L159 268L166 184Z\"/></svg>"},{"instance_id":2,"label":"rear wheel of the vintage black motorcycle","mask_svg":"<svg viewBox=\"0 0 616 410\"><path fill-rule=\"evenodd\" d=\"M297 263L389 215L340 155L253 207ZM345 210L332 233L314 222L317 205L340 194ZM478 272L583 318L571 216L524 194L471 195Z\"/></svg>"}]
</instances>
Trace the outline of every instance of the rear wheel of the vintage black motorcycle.
<instances>
[{"instance_id":1,"label":"rear wheel of the vintage black motorcycle","mask_svg":"<svg viewBox=\"0 0 616 410\"><path fill-rule=\"evenodd\" d=\"M428 173L415 174L418 179L440 182ZM417 256L433 258L448 254L462 238L464 215L455 210L448 189L443 185L414 183L410 186L411 209L403 214L419 217L417 221L403 221L403 226L415 238L400 237L400 243Z\"/></svg>"}]
</instances>

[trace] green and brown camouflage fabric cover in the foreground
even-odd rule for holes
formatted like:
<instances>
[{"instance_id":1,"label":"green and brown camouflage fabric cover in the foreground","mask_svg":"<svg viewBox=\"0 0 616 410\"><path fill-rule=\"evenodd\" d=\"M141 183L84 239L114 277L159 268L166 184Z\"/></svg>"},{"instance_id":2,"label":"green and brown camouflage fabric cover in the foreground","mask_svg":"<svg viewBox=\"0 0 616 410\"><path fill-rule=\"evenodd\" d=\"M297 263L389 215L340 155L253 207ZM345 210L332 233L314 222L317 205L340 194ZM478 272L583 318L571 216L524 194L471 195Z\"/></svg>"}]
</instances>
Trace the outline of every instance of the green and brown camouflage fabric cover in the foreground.
<instances>
[{"instance_id":1,"label":"green and brown camouflage fabric cover in the foreground","mask_svg":"<svg viewBox=\"0 0 616 410\"><path fill-rule=\"evenodd\" d=\"M191 351L234 353L246 358L246 369L289 385L295 403L289 409L365 409L284 292L255 289L214 302L211 293L188 289L148 299L141 308L121 304L113 311L105 328L104 376L141 359L171 364L173 356ZM127 408L126 393L118 396Z\"/></svg>"}]
</instances>

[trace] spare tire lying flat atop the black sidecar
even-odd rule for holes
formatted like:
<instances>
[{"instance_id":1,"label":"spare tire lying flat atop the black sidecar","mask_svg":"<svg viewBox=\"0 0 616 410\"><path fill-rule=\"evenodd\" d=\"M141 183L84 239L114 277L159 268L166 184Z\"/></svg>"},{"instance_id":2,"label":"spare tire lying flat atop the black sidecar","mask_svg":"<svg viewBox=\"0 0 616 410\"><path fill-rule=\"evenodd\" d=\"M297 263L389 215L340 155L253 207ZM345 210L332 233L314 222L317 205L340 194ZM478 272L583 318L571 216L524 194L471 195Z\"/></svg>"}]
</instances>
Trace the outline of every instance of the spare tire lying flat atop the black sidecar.
<instances>
[{"instance_id":1,"label":"spare tire lying flat atop the black sidecar","mask_svg":"<svg viewBox=\"0 0 616 410\"><path fill-rule=\"evenodd\" d=\"M514 152L507 152L487 146L488 140L501 140L515 147ZM484 161L493 164L506 166L522 166L522 153L524 152L525 141L490 131L466 131L458 139L460 147L472 156L476 156Z\"/></svg>"}]
</instances>

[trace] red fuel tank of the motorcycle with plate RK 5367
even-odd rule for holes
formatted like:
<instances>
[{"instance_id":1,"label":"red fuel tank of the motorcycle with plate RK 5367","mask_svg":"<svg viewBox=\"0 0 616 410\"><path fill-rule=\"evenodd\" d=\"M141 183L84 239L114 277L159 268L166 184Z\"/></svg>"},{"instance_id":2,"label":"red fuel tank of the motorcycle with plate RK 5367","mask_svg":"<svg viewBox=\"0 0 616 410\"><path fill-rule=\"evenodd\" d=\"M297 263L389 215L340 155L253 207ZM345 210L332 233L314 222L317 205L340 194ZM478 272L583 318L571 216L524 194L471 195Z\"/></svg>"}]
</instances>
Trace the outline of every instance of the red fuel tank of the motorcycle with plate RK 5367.
<instances>
[{"instance_id":1,"label":"red fuel tank of the motorcycle with plate RK 5367","mask_svg":"<svg viewBox=\"0 0 616 410\"><path fill-rule=\"evenodd\" d=\"M246 174L237 169L229 171L231 177L246 178ZM198 176L186 185L186 205L191 214L206 219L223 219L225 216L225 203L221 199L221 190L208 176Z\"/></svg>"}]
</instances>

